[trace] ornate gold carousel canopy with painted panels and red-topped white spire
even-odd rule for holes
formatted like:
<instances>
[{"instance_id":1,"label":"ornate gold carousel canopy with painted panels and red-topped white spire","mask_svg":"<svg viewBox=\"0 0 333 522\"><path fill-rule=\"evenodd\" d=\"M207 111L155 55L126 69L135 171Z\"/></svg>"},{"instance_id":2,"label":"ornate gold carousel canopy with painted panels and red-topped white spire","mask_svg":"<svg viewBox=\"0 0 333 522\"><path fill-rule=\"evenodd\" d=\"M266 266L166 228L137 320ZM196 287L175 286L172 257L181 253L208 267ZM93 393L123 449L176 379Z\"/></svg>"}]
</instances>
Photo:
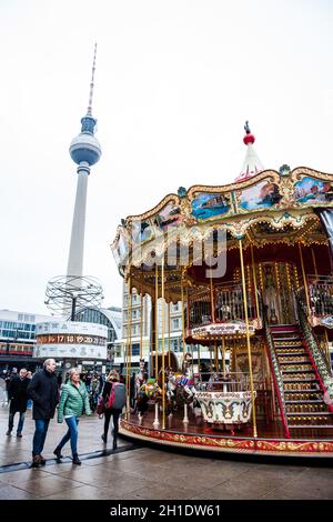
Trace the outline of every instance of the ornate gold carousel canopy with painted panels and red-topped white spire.
<instances>
[{"instance_id":1,"label":"ornate gold carousel canopy with painted panels and red-topped white spire","mask_svg":"<svg viewBox=\"0 0 333 522\"><path fill-rule=\"evenodd\" d=\"M125 279L137 270L153 281L157 260L163 259L170 288L175 287L183 267L195 264L202 254L198 244L219 233L224 233L228 251L240 240L245 250L279 243L329 244L320 214L333 209L333 174L303 167L291 171L287 165L260 171L254 137L249 126L245 130L249 175L244 179L219 187L180 188L148 212L122 220L111 249Z\"/></svg>"}]
</instances>

